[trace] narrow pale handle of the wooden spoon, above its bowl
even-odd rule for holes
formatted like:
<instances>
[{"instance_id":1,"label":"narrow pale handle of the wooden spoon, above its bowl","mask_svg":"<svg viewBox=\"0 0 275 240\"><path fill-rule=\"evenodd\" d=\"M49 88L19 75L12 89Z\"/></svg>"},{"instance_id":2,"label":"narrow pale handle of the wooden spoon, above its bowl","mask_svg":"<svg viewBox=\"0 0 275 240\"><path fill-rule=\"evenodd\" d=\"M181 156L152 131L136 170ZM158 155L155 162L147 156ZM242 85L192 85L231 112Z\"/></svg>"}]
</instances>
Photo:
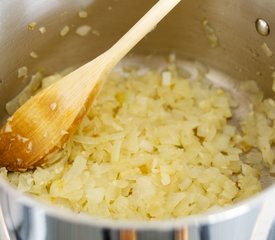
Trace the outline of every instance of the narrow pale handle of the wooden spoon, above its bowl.
<instances>
[{"instance_id":1,"label":"narrow pale handle of the wooden spoon, above its bowl","mask_svg":"<svg viewBox=\"0 0 275 240\"><path fill-rule=\"evenodd\" d=\"M146 34L180 2L181 0L158 1L116 44L107 52L112 60L109 67L113 68Z\"/></svg>"}]
</instances>

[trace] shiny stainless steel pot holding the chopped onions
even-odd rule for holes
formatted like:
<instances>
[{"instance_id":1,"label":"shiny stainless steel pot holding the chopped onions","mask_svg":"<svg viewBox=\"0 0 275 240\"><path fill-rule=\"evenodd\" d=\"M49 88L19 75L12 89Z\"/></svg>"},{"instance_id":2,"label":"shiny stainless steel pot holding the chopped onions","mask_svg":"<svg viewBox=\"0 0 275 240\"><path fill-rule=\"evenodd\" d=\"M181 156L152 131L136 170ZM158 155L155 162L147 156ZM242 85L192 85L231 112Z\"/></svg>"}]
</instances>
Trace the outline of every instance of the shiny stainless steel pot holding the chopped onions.
<instances>
[{"instance_id":1,"label":"shiny stainless steel pot holding the chopped onions","mask_svg":"<svg viewBox=\"0 0 275 240\"><path fill-rule=\"evenodd\" d=\"M28 66L30 73L43 69L50 74L87 62L110 47L154 2L1 0L1 120L6 118L5 103L27 84L17 79L18 67ZM87 19L77 16L82 9L89 12ZM267 57L261 45L265 42L271 50L275 50L273 9L275 1L267 0L185 0L133 53L175 52L182 59L197 59L228 78L239 81L254 79L266 96L271 96L274 58ZM265 25L256 31L255 21L258 18L269 24L269 34ZM215 29L218 47L209 44L202 25L205 19ZM47 32L41 34L37 29L28 30L27 25L32 21L37 22L38 27L45 26ZM100 36L91 34L81 38L73 33L76 26L85 23L99 31ZM59 32L65 25L71 27L71 32L62 38ZM30 58L31 51L38 52L39 58ZM275 197L275 186L271 184L272 178L267 180L263 193L216 213L146 223L100 220L46 206L17 192L1 180L0 236L1 239L12 240L267 239L267 233L261 236L264 238L255 235L255 226L261 225L263 211L274 211L271 201L266 201ZM265 219L266 225L271 222L272 217L268 221Z\"/></svg>"}]
</instances>

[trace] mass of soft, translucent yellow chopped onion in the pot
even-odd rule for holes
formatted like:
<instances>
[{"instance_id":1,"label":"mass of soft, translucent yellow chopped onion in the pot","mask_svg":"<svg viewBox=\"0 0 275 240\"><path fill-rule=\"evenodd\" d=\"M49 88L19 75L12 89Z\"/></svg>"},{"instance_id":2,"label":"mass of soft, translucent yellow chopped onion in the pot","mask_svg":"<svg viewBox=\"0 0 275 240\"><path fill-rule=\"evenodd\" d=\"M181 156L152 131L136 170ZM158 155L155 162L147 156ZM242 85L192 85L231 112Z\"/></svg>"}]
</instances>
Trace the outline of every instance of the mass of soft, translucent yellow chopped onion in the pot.
<instances>
[{"instance_id":1,"label":"mass of soft, translucent yellow chopped onion in the pot","mask_svg":"<svg viewBox=\"0 0 275 240\"><path fill-rule=\"evenodd\" d=\"M238 130L228 121L236 100L196 65L195 80L170 70L112 73L51 164L1 174L43 201L114 219L176 218L259 192L258 166L274 172L274 101L263 100L255 82L243 83L253 107Z\"/></svg>"}]
</instances>

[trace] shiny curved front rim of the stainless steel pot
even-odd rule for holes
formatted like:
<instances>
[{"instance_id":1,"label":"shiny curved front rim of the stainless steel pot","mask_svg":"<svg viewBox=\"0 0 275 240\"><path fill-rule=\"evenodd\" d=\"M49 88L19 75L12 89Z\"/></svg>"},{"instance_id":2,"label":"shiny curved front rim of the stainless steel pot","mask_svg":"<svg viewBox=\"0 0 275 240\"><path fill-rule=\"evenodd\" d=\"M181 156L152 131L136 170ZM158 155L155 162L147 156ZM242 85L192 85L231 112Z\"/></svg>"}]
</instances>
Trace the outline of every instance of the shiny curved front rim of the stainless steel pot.
<instances>
[{"instance_id":1,"label":"shiny curved front rim of the stainless steel pot","mask_svg":"<svg viewBox=\"0 0 275 240\"><path fill-rule=\"evenodd\" d=\"M6 182L0 177L0 188L6 192L7 198L16 199L18 204L24 207L36 208L40 212L43 211L45 216L55 218L60 221L87 225L91 227L103 227L108 229L135 229L135 230L158 230L169 231L180 229L184 226L199 226L204 224L215 224L236 218L242 214L247 213L251 209L260 206L261 203L272 194L275 195L275 185L263 190L246 200L242 200L231 206L220 208L215 212L191 215L177 219L165 219L154 221L141 221L141 220L114 220L93 217L88 213L74 213L67 209L60 209L58 206L43 203L36 200L27 194L15 189L10 183Z\"/></svg>"}]
</instances>

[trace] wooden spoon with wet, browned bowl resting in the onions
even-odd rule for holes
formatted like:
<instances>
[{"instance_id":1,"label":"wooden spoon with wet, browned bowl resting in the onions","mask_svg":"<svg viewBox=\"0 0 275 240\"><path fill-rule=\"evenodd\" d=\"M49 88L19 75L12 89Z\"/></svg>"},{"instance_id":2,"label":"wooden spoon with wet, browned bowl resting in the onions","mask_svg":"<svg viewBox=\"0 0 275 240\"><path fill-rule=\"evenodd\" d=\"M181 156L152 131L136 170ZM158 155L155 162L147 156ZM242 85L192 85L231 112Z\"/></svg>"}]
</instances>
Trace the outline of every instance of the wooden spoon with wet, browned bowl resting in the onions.
<instances>
[{"instance_id":1,"label":"wooden spoon with wet, browned bowl resting in the onions","mask_svg":"<svg viewBox=\"0 0 275 240\"><path fill-rule=\"evenodd\" d=\"M26 171L62 148L112 68L179 2L160 0L112 48L22 105L0 130L0 166Z\"/></svg>"}]
</instances>

